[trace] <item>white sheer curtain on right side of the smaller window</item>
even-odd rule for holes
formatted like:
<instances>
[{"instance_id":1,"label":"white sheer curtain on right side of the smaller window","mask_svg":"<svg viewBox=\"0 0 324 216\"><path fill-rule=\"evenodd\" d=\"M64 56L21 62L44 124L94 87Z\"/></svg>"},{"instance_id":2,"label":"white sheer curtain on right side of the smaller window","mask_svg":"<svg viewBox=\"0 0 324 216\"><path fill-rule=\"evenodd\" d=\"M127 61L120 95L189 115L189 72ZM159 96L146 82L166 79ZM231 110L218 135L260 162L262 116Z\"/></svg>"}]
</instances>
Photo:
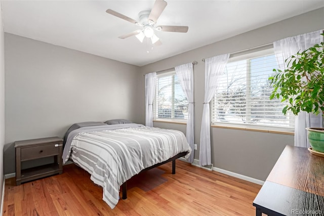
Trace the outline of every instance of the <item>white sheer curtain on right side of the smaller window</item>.
<instances>
[{"instance_id":1,"label":"white sheer curtain on right side of the smaller window","mask_svg":"<svg viewBox=\"0 0 324 216\"><path fill-rule=\"evenodd\" d=\"M189 103L186 137L191 149L193 150L194 149L193 66L192 63L188 63L188 64L176 66L175 69L182 90L185 93ZM192 153L190 157L187 159L188 162L193 163L193 156L194 154Z\"/></svg>"}]
</instances>

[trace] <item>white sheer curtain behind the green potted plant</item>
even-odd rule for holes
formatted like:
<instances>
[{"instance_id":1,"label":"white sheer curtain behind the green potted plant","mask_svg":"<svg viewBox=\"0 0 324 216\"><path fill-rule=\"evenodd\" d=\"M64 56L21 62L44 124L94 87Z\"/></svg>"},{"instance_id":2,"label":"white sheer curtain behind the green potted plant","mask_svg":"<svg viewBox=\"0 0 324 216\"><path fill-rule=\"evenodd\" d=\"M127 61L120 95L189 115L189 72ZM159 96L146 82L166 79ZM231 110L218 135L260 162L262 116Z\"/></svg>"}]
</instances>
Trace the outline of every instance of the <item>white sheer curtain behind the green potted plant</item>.
<instances>
[{"instance_id":1,"label":"white sheer curtain behind the green potted plant","mask_svg":"<svg viewBox=\"0 0 324 216\"><path fill-rule=\"evenodd\" d=\"M320 35L321 32L322 30L318 30L273 42L274 53L279 68L284 70L288 66L285 59L296 54L298 51L306 50L309 47L322 42L323 36ZM306 112L299 113L295 119L295 146L309 147L307 131L305 128L322 126L323 119L320 114L315 116Z\"/></svg>"}]
</instances>

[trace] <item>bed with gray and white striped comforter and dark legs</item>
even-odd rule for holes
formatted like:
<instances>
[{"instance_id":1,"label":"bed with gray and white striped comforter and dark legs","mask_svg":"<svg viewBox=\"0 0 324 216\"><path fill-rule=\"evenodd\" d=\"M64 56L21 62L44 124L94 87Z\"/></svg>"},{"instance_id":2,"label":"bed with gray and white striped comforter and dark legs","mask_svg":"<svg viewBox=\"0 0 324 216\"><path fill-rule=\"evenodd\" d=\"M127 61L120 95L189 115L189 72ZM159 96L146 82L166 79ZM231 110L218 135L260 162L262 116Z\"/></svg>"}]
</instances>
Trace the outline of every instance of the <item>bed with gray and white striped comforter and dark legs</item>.
<instances>
[{"instance_id":1,"label":"bed with gray and white striped comforter and dark legs","mask_svg":"<svg viewBox=\"0 0 324 216\"><path fill-rule=\"evenodd\" d=\"M103 188L103 200L114 208L127 198L127 181L143 170L191 154L181 131L146 127L141 124L109 121L73 124L64 137L63 163L69 159L91 174Z\"/></svg>"}]
</instances>

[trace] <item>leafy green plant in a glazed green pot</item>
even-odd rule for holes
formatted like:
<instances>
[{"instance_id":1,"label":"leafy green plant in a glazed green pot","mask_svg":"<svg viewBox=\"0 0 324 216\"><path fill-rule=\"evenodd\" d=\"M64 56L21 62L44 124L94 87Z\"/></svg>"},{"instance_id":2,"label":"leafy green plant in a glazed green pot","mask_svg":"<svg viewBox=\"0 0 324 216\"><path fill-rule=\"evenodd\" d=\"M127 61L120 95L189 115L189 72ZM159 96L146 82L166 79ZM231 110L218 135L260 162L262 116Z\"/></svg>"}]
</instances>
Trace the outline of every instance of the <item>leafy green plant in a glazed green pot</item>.
<instances>
[{"instance_id":1,"label":"leafy green plant in a glazed green pot","mask_svg":"<svg viewBox=\"0 0 324 216\"><path fill-rule=\"evenodd\" d=\"M324 35L324 34L321 34ZM282 109L297 115L301 111L324 116L324 43L299 51L286 59L288 68L270 77L274 87L270 99L282 98L288 105ZM324 128L306 128L312 150L324 153ZM321 140L321 141L319 141Z\"/></svg>"}]
</instances>

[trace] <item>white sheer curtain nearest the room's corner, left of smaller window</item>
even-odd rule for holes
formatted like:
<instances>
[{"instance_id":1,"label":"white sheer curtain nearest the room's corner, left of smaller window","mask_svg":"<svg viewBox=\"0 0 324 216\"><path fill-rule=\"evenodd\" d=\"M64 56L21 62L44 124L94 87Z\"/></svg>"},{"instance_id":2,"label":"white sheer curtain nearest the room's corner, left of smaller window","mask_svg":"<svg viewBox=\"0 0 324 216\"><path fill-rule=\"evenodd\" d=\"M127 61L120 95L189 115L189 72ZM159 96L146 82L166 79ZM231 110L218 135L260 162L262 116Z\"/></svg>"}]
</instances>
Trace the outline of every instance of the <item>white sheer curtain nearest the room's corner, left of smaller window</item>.
<instances>
[{"instance_id":1,"label":"white sheer curtain nearest the room's corner, left of smaller window","mask_svg":"<svg viewBox=\"0 0 324 216\"><path fill-rule=\"evenodd\" d=\"M145 125L153 127L153 99L156 86L156 72L145 75Z\"/></svg>"}]
</instances>

